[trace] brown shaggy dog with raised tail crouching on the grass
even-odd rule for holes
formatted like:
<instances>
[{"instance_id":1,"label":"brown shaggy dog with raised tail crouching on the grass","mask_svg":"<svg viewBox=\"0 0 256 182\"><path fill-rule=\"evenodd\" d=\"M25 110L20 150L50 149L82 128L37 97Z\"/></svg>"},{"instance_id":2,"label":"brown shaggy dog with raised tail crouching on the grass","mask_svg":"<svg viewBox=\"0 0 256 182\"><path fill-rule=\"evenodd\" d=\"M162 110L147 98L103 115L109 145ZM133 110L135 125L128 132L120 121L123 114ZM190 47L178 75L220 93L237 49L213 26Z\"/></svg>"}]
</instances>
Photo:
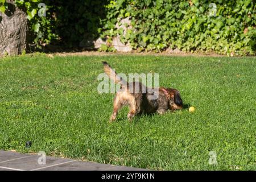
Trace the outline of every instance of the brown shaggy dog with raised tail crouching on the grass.
<instances>
[{"instance_id":1,"label":"brown shaggy dog with raised tail crouching on the grass","mask_svg":"<svg viewBox=\"0 0 256 182\"><path fill-rule=\"evenodd\" d=\"M109 76L115 84L120 84L120 90L115 94L113 113L110 122L117 118L118 110L123 106L129 106L127 118L131 121L135 115L159 113L164 114L166 111L178 110L183 108L183 101L180 97L179 90L173 88L148 88L141 82L126 82L122 77L114 71L112 67L105 61L104 72ZM139 92L135 92L136 86L139 86ZM142 92L142 90L146 92ZM154 98L158 94L157 98ZM154 98L154 99L152 99Z\"/></svg>"}]
</instances>

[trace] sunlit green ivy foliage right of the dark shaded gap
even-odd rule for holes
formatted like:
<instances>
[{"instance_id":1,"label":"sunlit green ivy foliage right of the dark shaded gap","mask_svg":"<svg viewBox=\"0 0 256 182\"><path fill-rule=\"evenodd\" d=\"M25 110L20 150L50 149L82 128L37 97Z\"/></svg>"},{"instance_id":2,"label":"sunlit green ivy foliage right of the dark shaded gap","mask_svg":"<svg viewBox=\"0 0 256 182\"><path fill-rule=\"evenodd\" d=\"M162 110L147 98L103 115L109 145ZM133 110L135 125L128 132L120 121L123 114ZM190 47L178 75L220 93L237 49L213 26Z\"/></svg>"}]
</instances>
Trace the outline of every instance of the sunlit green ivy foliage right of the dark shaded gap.
<instances>
[{"instance_id":1,"label":"sunlit green ivy foliage right of the dark shaded gap","mask_svg":"<svg viewBox=\"0 0 256 182\"><path fill-rule=\"evenodd\" d=\"M138 51L161 52L178 48L184 52L216 52L255 55L255 1L115 0L102 20L102 37L121 35ZM126 35L115 28L130 17Z\"/></svg>"}]
</instances>

